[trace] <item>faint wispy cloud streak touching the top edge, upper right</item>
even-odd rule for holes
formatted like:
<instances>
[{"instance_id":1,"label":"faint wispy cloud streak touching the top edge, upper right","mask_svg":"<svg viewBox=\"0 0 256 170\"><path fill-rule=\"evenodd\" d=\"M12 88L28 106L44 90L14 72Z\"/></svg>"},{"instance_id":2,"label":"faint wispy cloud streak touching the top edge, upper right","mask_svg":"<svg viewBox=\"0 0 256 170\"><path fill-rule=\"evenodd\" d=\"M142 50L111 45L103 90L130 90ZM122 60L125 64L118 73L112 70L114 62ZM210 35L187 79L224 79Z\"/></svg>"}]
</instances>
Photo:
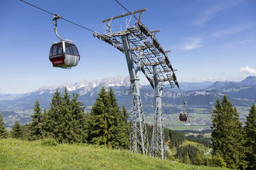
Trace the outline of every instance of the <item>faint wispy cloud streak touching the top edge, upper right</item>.
<instances>
[{"instance_id":1,"label":"faint wispy cloud streak touching the top edge, upper right","mask_svg":"<svg viewBox=\"0 0 256 170\"><path fill-rule=\"evenodd\" d=\"M222 1L217 5L213 5L211 8L208 8L200 14L200 17L193 21L194 25L202 25L206 21L213 19L215 16L218 16L220 12L226 10L227 8L231 8L239 3L242 3L244 0L230 0L230 1Z\"/></svg>"}]
</instances>

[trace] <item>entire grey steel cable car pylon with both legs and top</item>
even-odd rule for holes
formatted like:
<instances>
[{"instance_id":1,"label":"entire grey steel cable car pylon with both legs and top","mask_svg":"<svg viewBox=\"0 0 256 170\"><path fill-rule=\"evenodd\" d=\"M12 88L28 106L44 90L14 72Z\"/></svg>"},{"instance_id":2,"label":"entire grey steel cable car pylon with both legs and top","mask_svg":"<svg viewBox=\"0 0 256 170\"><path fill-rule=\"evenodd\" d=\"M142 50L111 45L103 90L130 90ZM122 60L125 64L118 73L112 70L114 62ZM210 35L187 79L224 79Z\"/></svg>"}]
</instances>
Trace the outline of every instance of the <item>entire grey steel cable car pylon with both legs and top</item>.
<instances>
[{"instance_id":1,"label":"entire grey steel cable car pylon with both legs and top","mask_svg":"<svg viewBox=\"0 0 256 170\"><path fill-rule=\"evenodd\" d=\"M106 24L105 34L94 32L94 37L103 40L116 49L125 53L127 66L131 82L131 133L130 148L135 153L141 151L142 154L158 156L165 158L164 132L162 125L162 85L169 82L171 88L178 86L175 69L167 56L170 51L164 51L158 40L156 32L160 30L149 31L145 25L140 22L141 14L147 9L137 10L114 16L103 20ZM139 13L136 18L135 14ZM110 23L124 16L130 16L126 23L125 30L113 32ZM131 18L136 19L135 25L129 25ZM126 20L127 21L127 20ZM151 147L145 124L145 117L142 110L142 101L140 98L140 71L145 75L156 95L156 112L153 125L153 136Z\"/></svg>"}]
</instances>

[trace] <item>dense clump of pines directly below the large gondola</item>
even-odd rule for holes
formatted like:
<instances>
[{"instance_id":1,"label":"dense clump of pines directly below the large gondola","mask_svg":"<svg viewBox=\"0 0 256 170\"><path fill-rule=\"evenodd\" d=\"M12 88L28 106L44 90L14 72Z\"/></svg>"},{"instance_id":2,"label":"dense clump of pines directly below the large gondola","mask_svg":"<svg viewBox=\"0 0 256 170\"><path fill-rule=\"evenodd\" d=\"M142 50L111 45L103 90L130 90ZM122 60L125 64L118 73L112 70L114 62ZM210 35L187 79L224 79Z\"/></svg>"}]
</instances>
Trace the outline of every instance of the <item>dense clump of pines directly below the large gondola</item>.
<instances>
[{"instance_id":1,"label":"dense clump of pines directly below the large gondola","mask_svg":"<svg viewBox=\"0 0 256 170\"><path fill-rule=\"evenodd\" d=\"M67 91L61 94L56 90L52 97L49 110L43 114L43 130L46 136L54 137L58 143L87 142L87 120L83 104L77 101L78 95L73 93L73 99Z\"/></svg>"}]
</instances>

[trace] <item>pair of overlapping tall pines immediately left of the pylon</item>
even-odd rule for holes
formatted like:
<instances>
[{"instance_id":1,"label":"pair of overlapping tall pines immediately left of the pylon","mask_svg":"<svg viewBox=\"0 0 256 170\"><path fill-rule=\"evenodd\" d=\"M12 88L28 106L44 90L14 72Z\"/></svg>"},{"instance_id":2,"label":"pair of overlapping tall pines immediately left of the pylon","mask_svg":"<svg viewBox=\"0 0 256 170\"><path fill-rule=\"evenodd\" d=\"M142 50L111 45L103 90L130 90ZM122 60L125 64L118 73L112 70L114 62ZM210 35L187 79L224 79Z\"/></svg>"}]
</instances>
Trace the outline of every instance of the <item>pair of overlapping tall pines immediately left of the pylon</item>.
<instances>
[{"instance_id":1,"label":"pair of overlapping tall pines immediately left of the pylon","mask_svg":"<svg viewBox=\"0 0 256 170\"><path fill-rule=\"evenodd\" d=\"M127 110L120 110L114 91L109 93L103 87L92 106L89 117L88 141L98 145L107 145L112 148L129 147L129 125Z\"/></svg>"}]
</instances>

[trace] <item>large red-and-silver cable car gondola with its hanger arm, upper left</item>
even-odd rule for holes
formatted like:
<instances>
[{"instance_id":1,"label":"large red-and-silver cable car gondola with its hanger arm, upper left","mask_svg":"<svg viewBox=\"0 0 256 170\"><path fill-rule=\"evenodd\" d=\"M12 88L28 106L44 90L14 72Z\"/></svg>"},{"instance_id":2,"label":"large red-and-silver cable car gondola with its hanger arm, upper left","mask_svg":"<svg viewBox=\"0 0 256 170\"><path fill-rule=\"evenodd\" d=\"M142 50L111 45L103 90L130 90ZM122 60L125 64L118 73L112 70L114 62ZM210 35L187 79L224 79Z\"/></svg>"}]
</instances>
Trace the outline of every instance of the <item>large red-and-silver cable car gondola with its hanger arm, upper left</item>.
<instances>
[{"instance_id":1,"label":"large red-and-silver cable car gondola with its hanger arm, upper left","mask_svg":"<svg viewBox=\"0 0 256 170\"><path fill-rule=\"evenodd\" d=\"M52 62L52 66L61 67L63 69L69 69L72 66L76 66L80 60L78 49L72 40L66 40L61 38L57 32L57 19L61 19L58 14L54 15L52 23L54 24L54 32L56 36L61 40L60 42L54 42L50 48L49 59Z\"/></svg>"}]
</instances>

